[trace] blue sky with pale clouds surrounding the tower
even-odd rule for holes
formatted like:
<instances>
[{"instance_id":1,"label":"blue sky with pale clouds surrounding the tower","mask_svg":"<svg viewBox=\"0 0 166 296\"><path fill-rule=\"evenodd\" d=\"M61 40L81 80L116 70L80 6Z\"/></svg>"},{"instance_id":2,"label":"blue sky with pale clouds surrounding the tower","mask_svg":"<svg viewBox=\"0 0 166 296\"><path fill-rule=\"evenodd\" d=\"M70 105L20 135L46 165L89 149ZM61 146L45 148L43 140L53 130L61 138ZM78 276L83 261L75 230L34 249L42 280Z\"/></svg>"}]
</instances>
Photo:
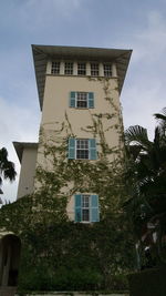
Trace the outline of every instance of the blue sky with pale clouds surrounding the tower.
<instances>
[{"instance_id":1,"label":"blue sky with pale clouds surrounding the tower","mask_svg":"<svg viewBox=\"0 0 166 296\"><path fill-rule=\"evenodd\" d=\"M166 0L0 0L0 147L15 163L2 201L17 197L12 142L37 142L41 113L31 44L132 49L121 94L124 126L153 140L166 106Z\"/></svg>"}]
</instances>

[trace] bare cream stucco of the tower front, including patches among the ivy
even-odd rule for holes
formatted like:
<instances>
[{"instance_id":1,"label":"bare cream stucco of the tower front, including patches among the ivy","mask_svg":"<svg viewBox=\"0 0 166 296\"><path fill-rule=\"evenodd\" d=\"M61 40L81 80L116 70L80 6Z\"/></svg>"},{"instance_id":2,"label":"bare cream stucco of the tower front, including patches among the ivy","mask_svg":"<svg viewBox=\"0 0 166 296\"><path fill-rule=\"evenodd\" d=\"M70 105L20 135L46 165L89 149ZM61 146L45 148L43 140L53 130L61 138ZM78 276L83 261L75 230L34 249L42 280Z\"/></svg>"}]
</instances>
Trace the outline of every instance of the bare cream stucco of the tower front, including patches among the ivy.
<instances>
[{"instance_id":1,"label":"bare cream stucco of the tower front, including patches among the ivy","mask_svg":"<svg viewBox=\"0 0 166 296\"><path fill-rule=\"evenodd\" d=\"M104 91L104 86L108 85L108 93ZM94 92L94 109L77 109L70 108L70 92ZM65 75L46 75L43 110L41 127L44 134L54 137L54 131L61 127L62 122L65 121L65 113L71 123L72 131L76 137L89 139L94 135L84 131L86 126L92 125L92 115L100 113L115 113L113 105L110 105L105 96L113 100L113 105L120 111L120 99L117 91L117 79L111 78L105 84L105 79L89 79L85 76L65 76ZM121 113L121 112L120 112ZM110 147L120 145L120 135L116 129L108 129L114 124L118 124L120 120L117 114L113 119L104 119L103 130L105 131L105 137ZM61 132L62 137L66 136L65 132ZM96 140L100 143L100 136L96 135ZM100 146L97 146L100 150ZM42 151L42 142L39 144L40 152ZM43 156L42 153L38 153L38 164L42 164L44 169L49 170L50 162ZM38 187L38 185L37 185ZM95 193L89 193L95 194ZM74 218L74 198L71 196L68 205L68 214L71 220Z\"/></svg>"}]
</instances>

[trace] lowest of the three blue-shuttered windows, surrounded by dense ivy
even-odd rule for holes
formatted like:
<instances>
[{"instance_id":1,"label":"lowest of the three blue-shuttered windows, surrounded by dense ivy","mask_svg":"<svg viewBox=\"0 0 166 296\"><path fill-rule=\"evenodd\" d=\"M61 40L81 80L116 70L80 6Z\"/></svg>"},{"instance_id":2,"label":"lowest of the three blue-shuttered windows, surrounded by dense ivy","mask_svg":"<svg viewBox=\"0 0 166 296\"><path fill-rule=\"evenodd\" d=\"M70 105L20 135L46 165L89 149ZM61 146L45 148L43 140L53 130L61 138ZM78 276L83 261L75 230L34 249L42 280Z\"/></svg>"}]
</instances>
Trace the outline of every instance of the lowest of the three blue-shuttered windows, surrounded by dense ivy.
<instances>
[{"instance_id":1,"label":"lowest of the three blue-shuttered windows, surrounded by dense ivy","mask_svg":"<svg viewBox=\"0 0 166 296\"><path fill-rule=\"evenodd\" d=\"M98 195L76 194L75 222L98 222Z\"/></svg>"}]
</instances>

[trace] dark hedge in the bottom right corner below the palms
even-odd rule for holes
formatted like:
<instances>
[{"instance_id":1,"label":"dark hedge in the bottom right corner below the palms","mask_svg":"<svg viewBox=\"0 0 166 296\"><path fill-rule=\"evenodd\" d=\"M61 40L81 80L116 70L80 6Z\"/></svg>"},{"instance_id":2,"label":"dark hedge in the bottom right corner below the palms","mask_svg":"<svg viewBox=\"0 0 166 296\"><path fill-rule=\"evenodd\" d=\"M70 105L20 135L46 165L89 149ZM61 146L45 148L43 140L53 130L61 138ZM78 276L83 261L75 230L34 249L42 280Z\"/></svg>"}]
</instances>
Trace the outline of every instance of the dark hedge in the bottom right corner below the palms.
<instances>
[{"instance_id":1,"label":"dark hedge in the bottom right corner below the palms","mask_svg":"<svg viewBox=\"0 0 166 296\"><path fill-rule=\"evenodd\" d=\"M165 296L166 267L128 275L131 296Z\"/></svg>"}]
</instances>

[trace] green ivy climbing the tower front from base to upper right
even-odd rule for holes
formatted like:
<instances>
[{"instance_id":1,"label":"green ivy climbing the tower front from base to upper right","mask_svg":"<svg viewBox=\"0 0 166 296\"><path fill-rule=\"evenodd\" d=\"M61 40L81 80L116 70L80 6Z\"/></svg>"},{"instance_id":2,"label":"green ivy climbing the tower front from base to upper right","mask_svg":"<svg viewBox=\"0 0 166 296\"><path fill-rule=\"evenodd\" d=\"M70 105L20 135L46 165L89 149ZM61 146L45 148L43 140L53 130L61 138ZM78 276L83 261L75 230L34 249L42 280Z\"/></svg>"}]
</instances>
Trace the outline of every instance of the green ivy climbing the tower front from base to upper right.
<instances>
[{"instance_id":1,"label":"green ivy climbing the tower front from base to upper right","mask_svg":"<svg viewBox=\"0 0 166 296\"><path fill-rule=\"evenodd\" d=\"M34 193L1 210L1 227L21 237L20 290L126 287L123 274L133 269L134 242L122 208L127 198L123 124L110 81L100 81L110 110L92 114L86 129L100 140L98 160L66 159L68 139L75 135L65 114L59 130L41 129ZM106 142L111 129L117 135L114 147ZM100 223L69 220L66 205L77 192L98 194Z\"/></svg>"}]
</instances>

